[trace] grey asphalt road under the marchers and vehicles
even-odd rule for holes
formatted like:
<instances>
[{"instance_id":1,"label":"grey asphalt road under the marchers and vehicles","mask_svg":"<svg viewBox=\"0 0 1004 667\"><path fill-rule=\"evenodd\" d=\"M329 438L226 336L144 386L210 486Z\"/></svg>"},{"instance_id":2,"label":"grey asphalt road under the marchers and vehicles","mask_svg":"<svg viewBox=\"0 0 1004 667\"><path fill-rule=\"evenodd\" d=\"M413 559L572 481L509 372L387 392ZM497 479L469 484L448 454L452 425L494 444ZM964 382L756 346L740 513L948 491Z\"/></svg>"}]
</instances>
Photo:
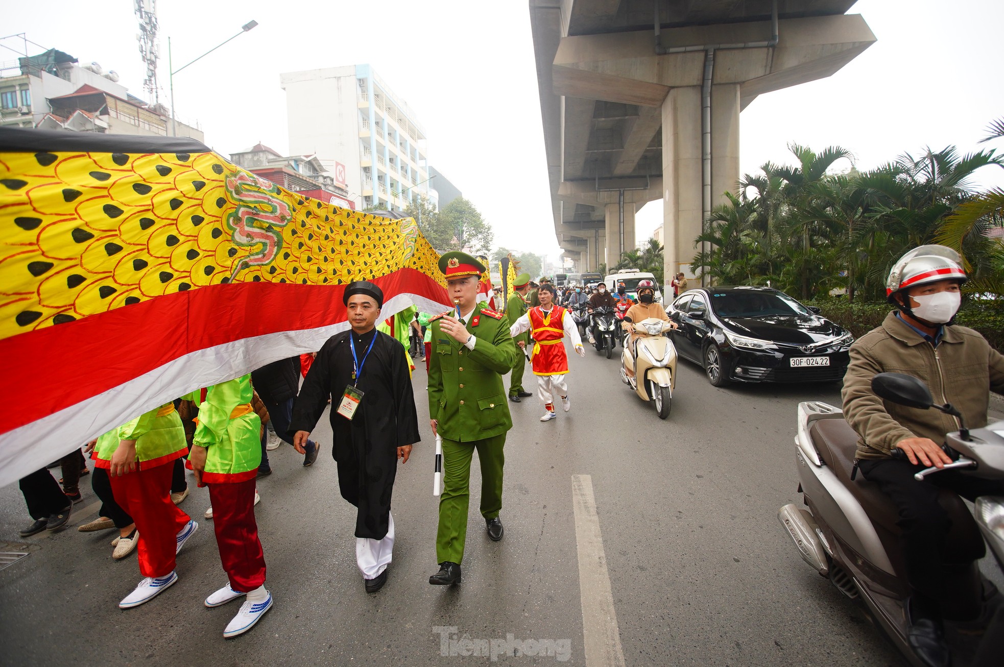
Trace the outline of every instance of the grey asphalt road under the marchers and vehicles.
<instances>
[{"instance_id":1,"label":"grey asphalt road under the marchers and vehicles","mask_svg":"<svg viewBox=\"0 0 1004 667\"><path fill-rule=\"evenodd\" d=\"M542 424L535 398L510 404L505 538L487 539L475 492L459 587L427 583L437 569L437 499L424 367L413 378L424 439L399 470L395 559L379 593L364 592L355 567L354 513L338 495L326 417L313 467L291 447L270 452L257 518L275 605L234 640L222 632L238 605L203 607L226 583L202 518L205 488L193 483L182 505L200 529L179 557L180 581L128 611L116 603L140 580L136 556L111 559L113 532L76 531L98 509L89 477L67 529L24 540L17 485L0 489L0 542L30 552L0 570L0 664L487 664L491 656L458 649L496 640L500 650L519 642L538 653L497 657L507 664L585 665L583 613L603 607L602 586L580 587L583 554L593 574L608 573L612 637L629 666L903 664L858 608L802 563L776 518L800 502L795 406L839 404L836 386L716 389L681 362L672 414L661 421L620 383L615 360L589 349L571 366L571 412ZM579 544L581 527L576 541L573 475L589 475L601 554ZM465 636L471 644L457 642Z\"/></svg>"}]
</instances>

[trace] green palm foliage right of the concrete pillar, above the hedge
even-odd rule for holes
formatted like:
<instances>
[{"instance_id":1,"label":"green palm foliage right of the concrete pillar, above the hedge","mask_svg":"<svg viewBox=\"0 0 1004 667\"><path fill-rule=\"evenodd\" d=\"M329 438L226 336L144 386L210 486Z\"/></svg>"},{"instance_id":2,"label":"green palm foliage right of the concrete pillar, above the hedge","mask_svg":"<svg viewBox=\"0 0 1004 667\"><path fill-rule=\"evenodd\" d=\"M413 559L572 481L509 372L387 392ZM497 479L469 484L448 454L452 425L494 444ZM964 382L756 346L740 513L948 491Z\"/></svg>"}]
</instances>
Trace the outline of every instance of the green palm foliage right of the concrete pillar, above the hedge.
<instances>
[{"instance_id":1,"label":"green palm foliage right of the concrete pillar, above the hedge","mask_svg":"<svg viewBox=\"0 0 1004 667\"><path fill-rule=\"evenodd\" d=\"M1004 135L1004 122L993 130ZM979 194L973 174L1004 166L994 150L955 147L905 153L868 172L829 170L851 154L789 145L794 166L766 163L746 175L739 195L712 210L695 240L691 268L717 285L764 285L802 299L846 293L883 301L893 263L907 250L940 243L967 262L969 289L1004 294L1000 227L1004 192Z\"/></svg>"}]
</instances>

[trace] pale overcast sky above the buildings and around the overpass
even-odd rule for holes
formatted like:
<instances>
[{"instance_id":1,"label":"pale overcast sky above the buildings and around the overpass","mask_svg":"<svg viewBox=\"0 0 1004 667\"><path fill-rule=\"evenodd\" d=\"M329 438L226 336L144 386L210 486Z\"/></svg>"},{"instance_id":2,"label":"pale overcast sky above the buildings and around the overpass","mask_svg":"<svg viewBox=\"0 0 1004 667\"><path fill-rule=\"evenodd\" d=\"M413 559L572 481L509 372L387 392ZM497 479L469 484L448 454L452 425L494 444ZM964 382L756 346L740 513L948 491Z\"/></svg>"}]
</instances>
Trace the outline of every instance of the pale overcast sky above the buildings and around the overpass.
<instances>
[{"instance_id":1,"label":"pale overcast sky above the buildings and around the overpass","mask_svg":"<svg viewBox=\"0 0 1004 667\"><path fill-rule=\"evenodd\" d=\"M2 31L121 75L143 89L132 0L5 3ZM429 157L495 229L496 245L556 256L528 3L525 0L161 0L161 101L168 93L168 36L175 69L259 25L179 73L180 119L229 156L263 141L288 147L285 71L370 63L419 115ZM790 162L786 144L831 144L869 169L925 145L978 149L1004 116L1000 0L860 0L878 41L835 75L762 95L742 114L742 172ZM18 39L0 44L21 49ZM33 51L39 49L31 47ZM0 62L17 57L0 49ZM981 147L987 147L983 144ZM1004 149L1004 142L1001 148ZM845 165L849 166L849 165ZM841 168L842 169L842 168ZM1004 185L987 168L981 186ZM644 241L662 223L653 202L638 216Z\"/></svg>"}]
</instances>

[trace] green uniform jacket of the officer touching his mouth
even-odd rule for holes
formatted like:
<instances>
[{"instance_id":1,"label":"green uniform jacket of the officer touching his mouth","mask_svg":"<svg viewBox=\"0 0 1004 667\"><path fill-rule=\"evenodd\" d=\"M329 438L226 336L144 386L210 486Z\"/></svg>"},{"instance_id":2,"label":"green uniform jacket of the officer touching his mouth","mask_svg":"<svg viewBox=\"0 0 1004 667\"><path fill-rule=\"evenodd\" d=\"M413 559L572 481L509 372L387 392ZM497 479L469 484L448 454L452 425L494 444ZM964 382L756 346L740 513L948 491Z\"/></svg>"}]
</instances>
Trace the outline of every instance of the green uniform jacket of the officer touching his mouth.
<instances>
[{"instance_id":1,"label":"green uniform jacket of the officer touching his mouth","mask_svg":"<svg viewBox=\"0 0 1004 667\"><path fill-rule=\"evenodd\" d=\"M483 440L512 428L502 375L512 369L516 344L509 319L501 313L498 318L482 314L486 307L479 302L467 323L477 337L473 350L443 333L439 319L431 323L429 415L448 440Z\"/></svg>"}]
</instances>

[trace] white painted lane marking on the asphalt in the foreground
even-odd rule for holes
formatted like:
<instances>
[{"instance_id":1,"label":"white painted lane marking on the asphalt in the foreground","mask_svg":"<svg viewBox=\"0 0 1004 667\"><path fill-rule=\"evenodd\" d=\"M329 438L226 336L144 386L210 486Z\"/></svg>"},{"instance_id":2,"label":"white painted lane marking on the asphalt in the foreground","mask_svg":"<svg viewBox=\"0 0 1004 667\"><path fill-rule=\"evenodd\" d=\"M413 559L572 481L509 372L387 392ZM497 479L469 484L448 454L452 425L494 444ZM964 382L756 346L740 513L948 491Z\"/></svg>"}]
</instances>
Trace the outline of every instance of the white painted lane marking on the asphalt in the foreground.
<instances>
[{"instance_id":1,"label":"white painted lane marking on the asphalt in the foreground","mask_svg":"<svg viewBox=\"0 0 1004 667\"><path fill-rule=\"evenodd\" d=\"M620 631L613 609L606 554L599 533L592 476L571 475L575 511L575 546L578 549L578 588L582 602L582 643L586 667L623 667Z\"/></svg>"}]
</instances>

